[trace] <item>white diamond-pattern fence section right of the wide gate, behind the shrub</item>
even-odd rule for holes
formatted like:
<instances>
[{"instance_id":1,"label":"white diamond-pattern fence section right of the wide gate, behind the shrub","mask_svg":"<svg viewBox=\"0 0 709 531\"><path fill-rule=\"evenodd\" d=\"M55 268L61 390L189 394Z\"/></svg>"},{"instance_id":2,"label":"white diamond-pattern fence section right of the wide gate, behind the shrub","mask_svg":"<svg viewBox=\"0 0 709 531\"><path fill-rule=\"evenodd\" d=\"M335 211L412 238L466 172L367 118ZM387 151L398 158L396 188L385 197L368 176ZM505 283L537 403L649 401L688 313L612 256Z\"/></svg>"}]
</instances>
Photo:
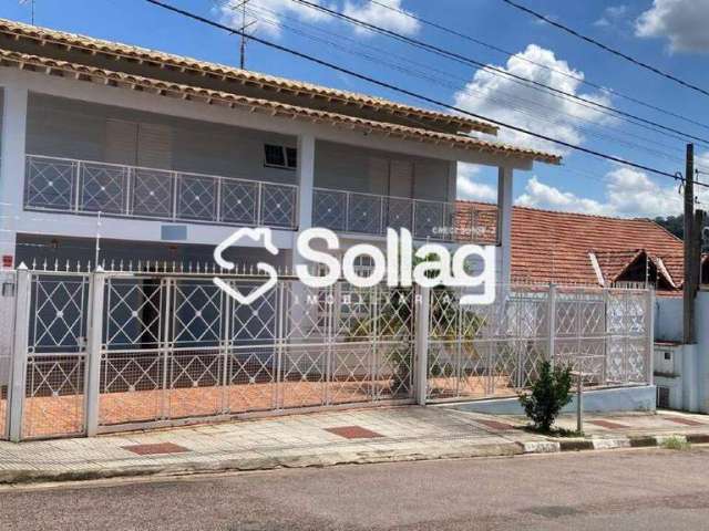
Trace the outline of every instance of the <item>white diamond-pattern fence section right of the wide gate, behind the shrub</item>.
<instances>
[{"instance_id":1,"label":"white diamond-pattern fence section right of the wide gate, behind the shrub","mask_svg":"<svg viewBox=\"0 0 709 531\"><path fill-rule=\"evenodd\" d=\"M551 360L586 385L651 382L648 290L512 285L490 305L461 305L432 290L427 398L514 396Z\"/></svg>"}]
</instances>

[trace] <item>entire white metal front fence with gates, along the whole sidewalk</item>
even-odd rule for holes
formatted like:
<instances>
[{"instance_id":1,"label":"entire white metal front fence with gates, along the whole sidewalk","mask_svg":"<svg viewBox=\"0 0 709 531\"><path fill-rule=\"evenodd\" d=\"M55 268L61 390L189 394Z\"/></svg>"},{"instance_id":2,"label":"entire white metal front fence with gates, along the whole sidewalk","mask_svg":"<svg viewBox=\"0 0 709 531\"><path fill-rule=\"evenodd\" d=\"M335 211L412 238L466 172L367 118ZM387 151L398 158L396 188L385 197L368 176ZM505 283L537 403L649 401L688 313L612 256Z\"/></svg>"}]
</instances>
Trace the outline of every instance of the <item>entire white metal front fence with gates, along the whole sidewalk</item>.
<instances>
[{"instance_id":1,"label":"entire white metal front fence with gates, along the whole sidewalk","mask_svg":"<svg viewBox=\"0 0 709 531\"><path fill-rule=\"evenodd\" d=\"M146 269L6 274L0 435L515 396L542 360L571 363L588 385L653 378L647 290L514 285L461 305L460 290L286 277L243 305L213 283L218 271ZM264 280L222 278L242 292Z\"/></svg>"}]
</instances>

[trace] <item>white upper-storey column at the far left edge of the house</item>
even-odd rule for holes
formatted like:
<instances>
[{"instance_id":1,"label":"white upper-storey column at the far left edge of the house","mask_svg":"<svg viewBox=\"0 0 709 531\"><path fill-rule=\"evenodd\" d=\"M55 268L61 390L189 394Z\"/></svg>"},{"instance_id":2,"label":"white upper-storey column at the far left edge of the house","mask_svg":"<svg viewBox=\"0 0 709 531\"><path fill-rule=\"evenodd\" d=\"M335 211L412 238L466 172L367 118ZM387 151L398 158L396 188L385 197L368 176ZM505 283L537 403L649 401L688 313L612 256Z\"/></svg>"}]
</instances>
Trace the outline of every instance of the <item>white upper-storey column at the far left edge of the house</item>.
<instances>
[{"instance_id":1,"label":"white upper-storey column at the far left edge of the house","mask_svg":"<svg viewBox=\"0 0 709 531\"><path fill-rule=\"evenodd\" d=\"M3 91L0 171L0 253L14 256L16 216L22 210L27 136L27 88L13 84Z\"/></svg>"}]
</instances>

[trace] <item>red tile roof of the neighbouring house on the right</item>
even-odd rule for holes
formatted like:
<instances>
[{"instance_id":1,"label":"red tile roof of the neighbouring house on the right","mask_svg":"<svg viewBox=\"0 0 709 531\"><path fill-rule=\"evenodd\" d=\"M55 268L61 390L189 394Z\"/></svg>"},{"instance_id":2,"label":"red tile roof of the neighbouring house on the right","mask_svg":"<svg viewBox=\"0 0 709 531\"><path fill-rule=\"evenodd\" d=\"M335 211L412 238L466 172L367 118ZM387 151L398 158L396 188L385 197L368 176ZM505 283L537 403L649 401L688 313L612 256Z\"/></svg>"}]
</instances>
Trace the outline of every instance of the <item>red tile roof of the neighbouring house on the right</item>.
<instances>
[{"instance_id":1,"label":"red tile roof of the neighbouring house on the right","mask_svg":"<svg viewBox=\"0 0 709 531\"><path fill-rule=\"evenodd\" d=\"M477 215L480 222L485 223L496 219L496 210L495 205L458 201L459 233L470 233L471 212L485 212ZM513 208L514 280L598 284L592 254L606 283L618 280L623 272L647 256L667 284L674 289L682 284L682 241L655 221Z\"/></svg>"}]
</instances>

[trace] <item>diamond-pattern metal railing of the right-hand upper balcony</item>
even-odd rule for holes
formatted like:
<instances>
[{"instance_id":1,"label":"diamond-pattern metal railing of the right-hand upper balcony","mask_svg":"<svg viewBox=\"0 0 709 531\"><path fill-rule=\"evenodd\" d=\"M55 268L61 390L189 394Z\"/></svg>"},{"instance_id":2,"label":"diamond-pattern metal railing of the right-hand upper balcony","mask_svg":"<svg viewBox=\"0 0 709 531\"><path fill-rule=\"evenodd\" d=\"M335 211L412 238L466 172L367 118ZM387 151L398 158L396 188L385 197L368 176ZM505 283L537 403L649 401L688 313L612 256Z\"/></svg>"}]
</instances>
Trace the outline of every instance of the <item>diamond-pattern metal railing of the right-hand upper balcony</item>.
<instances>
[{"instance_id":1,"label":"diamond-pattern metal railing of the right-hand upper balcony","mask_svg":"<svg viewBox=\"0 0 709 531\"><path fill-rule=\"evenodd\" d=\"M455 205L407 197L315 188L312 225L341 232L384 236L405 228L417 239L496 243L495 208L456 212Z\"/></svg>"}]
</instances>

